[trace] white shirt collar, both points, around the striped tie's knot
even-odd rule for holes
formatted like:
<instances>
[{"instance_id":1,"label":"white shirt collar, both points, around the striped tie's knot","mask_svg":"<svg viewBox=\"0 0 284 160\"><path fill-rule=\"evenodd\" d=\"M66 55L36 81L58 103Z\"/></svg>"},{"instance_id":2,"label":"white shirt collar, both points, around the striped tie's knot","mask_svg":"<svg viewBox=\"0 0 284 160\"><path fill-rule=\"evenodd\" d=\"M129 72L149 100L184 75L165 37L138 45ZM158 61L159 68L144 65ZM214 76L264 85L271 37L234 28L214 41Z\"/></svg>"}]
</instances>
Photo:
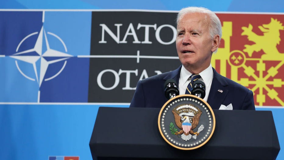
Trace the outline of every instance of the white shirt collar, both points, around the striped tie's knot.
<instances>
[{"instance_id":1,"label":"white shirt collar, both points, around the striped tie's knot","mask_svg":"<svg viewBox=\"0 0 284 160\"><path fill-rule=\"evenodd\" d=\"M187 71L185 67L182 66L180 70L180 77L179 77L181 85L184 85L191 75L192 73ZM210 64L209 67L207 67L205 70L200 72L199 75L201 76L205 85L208 87L213 78L212 65Z\"/></svg>"}]
</instances>

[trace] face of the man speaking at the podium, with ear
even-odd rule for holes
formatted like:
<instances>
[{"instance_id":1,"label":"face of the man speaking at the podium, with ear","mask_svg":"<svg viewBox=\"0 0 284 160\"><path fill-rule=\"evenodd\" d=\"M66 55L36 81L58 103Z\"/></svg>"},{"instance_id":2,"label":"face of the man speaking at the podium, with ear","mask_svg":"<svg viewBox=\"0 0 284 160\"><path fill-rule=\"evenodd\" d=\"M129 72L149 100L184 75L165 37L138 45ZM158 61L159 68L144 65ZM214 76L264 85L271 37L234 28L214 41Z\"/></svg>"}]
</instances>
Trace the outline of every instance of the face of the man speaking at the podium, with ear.
<instances>
[{"instance_id":1,"label":"face of the man speaking at the podium, with ear","mask_svg":"<svg viewBox=\"0 0 284 160\"><path fill-rule=\"evenodd\" d=\"M188 13L177 25L176 50L183 66L193 72L209 67L214 39L209 34L210 19L204 13Z\"/></svg>"}]
</instances>

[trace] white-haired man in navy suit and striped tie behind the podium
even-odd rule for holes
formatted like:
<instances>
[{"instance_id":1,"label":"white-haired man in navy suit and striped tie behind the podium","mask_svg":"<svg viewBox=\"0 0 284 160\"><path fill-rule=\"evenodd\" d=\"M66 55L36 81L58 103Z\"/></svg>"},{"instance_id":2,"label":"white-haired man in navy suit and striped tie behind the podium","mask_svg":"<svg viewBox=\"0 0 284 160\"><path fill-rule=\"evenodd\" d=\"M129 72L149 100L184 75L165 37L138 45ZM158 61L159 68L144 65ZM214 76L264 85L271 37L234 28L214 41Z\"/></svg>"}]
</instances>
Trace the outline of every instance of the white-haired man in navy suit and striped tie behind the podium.
<instances>
[{"instance_id":1,"label":"white-haired man in navy suit and striped tie behind the podium","mask_svg":"<svg viewBox=\"0 0 284 160\"><path fill-rule=\"evenodd\" d=\"M221 41L222 26L212 11L188 7L177 16L176 50L182 63L178 69L143 79L137 83L130 107L162 107L165 97L164 83L174 79L179 94L185 94L191 75L199 74L206 85L204 100L212 109L233 108L255 110L253 93L244 86L218 74L211 66L212 53Z\"/></svg>"}]
</instances>

